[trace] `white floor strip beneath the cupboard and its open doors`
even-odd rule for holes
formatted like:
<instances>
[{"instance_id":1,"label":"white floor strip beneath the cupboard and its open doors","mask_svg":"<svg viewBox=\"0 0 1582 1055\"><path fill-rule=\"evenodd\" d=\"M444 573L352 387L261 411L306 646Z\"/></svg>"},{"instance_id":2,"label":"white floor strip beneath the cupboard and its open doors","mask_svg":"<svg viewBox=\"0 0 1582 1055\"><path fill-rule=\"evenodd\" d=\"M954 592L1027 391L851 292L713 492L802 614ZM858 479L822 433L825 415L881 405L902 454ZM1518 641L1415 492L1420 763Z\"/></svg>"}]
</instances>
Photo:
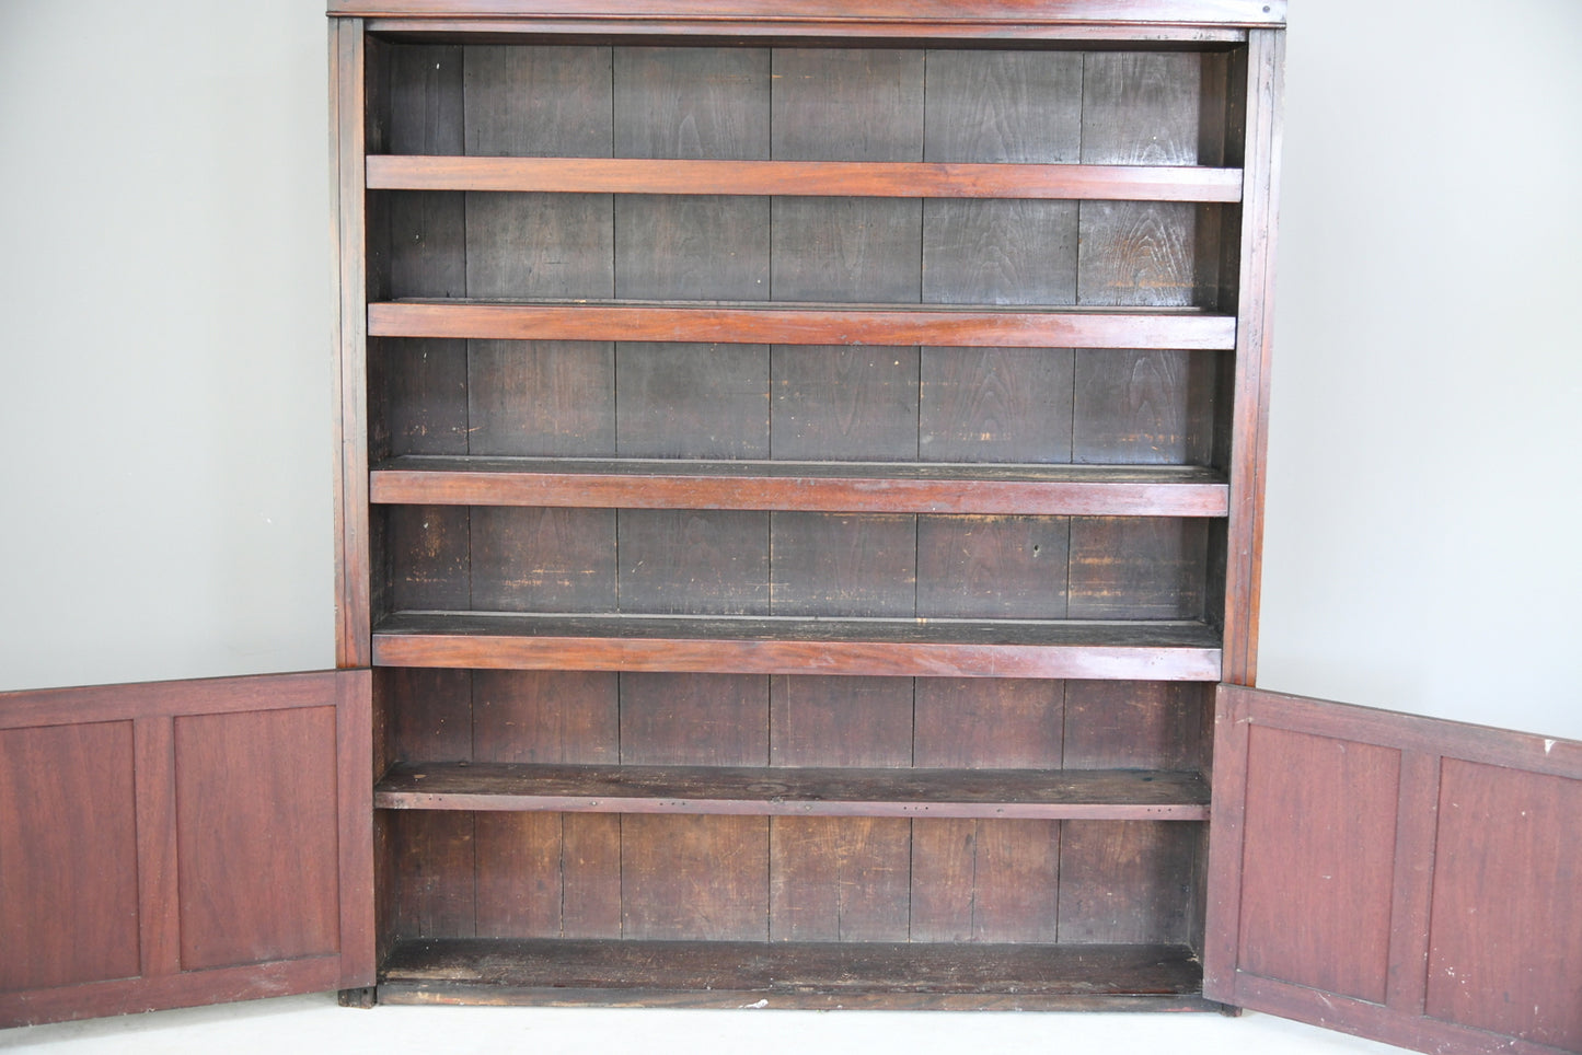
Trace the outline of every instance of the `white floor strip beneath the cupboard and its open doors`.
<instances>
[{"instance_id":1,"label":"white floor strip beneath the cupboard and its open doors","mask_svg":"<svg viewBox=\"0 0 1582 1055\"><path fill-rule=\"evenodd\" d=\"M1245 1014L1016 1014L900 1011L604 1011L340 1008L334 995L160 1011L0 1030L0 1050L47 1055L316 1055L432 1050L533 1055L1398 1055L1402 1049Z\"/></svg>"}]
</instances>

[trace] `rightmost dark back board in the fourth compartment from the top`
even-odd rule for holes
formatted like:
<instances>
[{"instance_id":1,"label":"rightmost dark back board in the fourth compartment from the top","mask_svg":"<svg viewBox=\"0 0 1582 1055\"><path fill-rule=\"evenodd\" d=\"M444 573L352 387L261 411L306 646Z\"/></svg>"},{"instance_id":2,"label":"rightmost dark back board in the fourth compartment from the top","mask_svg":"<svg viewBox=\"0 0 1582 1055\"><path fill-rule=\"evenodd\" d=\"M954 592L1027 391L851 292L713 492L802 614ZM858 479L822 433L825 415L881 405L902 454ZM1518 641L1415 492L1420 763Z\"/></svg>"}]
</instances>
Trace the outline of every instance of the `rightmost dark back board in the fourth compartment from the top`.
<instances>
[{"instance_id":1,"label":"rightmost dark back board in the fourth compartment from the top","mask_svg":"<svg viewBox=\"0 0 1582 1055\"><path fill-rule=\"evenodd\" d=\"M1193 517L1071 517L1071 618L1202 618L1209 528Z\"/></svg>"}]
</instances>

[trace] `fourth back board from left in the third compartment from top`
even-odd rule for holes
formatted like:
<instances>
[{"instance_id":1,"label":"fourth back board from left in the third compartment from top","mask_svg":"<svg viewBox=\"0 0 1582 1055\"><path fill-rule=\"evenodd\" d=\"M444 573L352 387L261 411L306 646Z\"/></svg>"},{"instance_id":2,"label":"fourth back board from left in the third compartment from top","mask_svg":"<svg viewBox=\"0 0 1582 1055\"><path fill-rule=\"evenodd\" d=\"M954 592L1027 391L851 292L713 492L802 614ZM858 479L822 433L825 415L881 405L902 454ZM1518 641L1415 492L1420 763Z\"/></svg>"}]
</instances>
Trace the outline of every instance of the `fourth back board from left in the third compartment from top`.
<instances>
[{"instance_id":1,"label":"fourth back board from left in the third compartment from top","mask_svg":"<svg viewBox=\"0 0 1582 1055\"><path fill-rule=\"evenodd\" d=\"M777 345L770 386L772 457L918 457L916 348Z\"/></svg>"}]
</instances>

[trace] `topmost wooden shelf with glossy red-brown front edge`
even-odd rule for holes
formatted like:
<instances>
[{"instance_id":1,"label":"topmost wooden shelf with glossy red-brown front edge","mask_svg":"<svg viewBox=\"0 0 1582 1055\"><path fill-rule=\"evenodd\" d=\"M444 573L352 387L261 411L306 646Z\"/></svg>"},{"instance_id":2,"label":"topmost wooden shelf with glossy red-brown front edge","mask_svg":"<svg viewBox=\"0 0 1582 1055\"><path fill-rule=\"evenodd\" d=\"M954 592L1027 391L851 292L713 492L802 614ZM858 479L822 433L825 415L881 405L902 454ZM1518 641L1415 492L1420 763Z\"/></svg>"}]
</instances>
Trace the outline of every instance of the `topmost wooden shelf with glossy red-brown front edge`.
<instances>
[{"instance_id":1,"label":"topmost wooden shelf with glossy red-brown front edge","mask_svg":"<svg viewBox=\"0 0 1582 1055\"><path fill-rule=\"evenodd\" d=\"M865 198L1242 199L1242 171L1136 164L372 155L369 190Z\"/></svg>"}]
</instances>

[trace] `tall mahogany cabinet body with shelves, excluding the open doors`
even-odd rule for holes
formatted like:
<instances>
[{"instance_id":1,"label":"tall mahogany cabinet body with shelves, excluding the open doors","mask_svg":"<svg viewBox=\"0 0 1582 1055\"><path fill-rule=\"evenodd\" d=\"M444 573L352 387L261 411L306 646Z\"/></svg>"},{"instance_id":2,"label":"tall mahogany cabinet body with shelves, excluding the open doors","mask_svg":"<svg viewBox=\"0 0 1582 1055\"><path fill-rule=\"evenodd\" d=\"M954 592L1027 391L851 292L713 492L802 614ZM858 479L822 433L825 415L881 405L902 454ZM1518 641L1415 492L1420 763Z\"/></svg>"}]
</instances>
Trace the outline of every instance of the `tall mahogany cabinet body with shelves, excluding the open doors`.
<instances>
[{"instance_id":1,"label":"tall mahogany cabinet body with shelves, excluding the open doors","mask_svg":"<svg viewBox=\"0 0 1582 1055\"><path fill-rule=\"evenodd\" d=\"M340 22L380 1000L1202 1003L1278 21L880 6Z\"/></svg>"}]
</instances>

